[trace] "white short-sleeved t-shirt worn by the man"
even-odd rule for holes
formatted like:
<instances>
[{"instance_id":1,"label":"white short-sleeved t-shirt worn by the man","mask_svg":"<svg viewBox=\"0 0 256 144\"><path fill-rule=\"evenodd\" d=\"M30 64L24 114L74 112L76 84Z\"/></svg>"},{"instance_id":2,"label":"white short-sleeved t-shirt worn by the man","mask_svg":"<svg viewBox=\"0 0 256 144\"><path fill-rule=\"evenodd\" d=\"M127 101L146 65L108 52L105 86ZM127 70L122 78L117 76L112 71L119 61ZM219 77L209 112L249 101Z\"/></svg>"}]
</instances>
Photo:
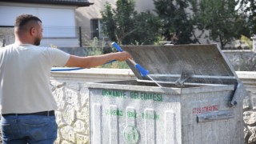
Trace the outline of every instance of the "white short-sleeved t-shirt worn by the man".
<instances>
[{"instance_id":1,"label":"white short-sleeved t-shirt worn by the man","mask_svg":"<svg viewBox=\"0 0 256 144\"><path fill-rule=\"evenodd\" d=\"M35 113L56 110L50 90L52 66L65 66L70 54L34 45L0 48L0 112Z\"/></svg>"}]
</instances>

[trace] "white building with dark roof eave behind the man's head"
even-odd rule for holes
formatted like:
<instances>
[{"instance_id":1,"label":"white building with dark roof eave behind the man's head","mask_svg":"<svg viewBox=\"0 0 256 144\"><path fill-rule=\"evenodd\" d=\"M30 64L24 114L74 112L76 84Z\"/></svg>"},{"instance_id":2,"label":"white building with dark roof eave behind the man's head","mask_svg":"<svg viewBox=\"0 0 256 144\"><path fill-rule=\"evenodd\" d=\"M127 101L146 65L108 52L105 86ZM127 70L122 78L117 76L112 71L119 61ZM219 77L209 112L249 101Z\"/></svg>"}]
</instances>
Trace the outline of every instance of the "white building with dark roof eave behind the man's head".
<instances>
[{"instance_id":1,"label":"white building with dark roof eave behind the man's head","mask_svg":"<svg viewBox=\"0 0 256 144\"><path fill-rule=\"evenodd\" d=\"M19 14L33 14L42 20L41 46L79 46L75 10L92 4L87 0L0 0L0 42L14 42L11 29Z\"/></svg>"}]
</instances>

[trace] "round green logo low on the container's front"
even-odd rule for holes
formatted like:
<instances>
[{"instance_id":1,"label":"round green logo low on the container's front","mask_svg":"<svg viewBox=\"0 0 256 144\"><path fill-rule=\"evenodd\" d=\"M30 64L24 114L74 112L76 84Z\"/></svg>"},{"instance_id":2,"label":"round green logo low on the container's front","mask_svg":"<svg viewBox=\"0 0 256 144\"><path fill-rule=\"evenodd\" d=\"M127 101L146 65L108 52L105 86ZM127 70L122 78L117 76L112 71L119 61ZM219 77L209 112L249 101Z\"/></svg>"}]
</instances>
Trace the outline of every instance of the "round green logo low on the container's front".
<instances>
[{"instance_id":1,"label":"round green logo low on the container's front","mask_svg":"<svg viewBox=\"0 0 256 144\"><path fill-rule=\"evenodd\" d=\"M138 142L138 130L134 126L126 126L125 130L123 130L123 136L127 143Z\"/></svg>"}]
</instances>

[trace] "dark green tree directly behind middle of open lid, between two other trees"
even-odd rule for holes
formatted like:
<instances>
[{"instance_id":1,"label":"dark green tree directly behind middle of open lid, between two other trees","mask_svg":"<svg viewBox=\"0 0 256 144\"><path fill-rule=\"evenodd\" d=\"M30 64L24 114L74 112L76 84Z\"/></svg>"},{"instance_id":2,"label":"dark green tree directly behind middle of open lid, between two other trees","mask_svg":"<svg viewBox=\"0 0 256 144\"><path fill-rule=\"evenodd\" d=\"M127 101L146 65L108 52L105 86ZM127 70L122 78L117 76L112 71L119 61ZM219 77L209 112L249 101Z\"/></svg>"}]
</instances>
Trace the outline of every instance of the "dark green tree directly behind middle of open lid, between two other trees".
<instances>
[{"instance_id":1,"label":"dark green tree directly behind middle of open lid, between two other trees","mask_svg":"<svg viewBox=\"0 0 256 144\"><path fill-rule=\"evenodd\" d=\"M155 12L161 21L161 34L174 44L194 43L193 23L186 14L186 0L154 0Z\"/></svg>"}]
</instances>

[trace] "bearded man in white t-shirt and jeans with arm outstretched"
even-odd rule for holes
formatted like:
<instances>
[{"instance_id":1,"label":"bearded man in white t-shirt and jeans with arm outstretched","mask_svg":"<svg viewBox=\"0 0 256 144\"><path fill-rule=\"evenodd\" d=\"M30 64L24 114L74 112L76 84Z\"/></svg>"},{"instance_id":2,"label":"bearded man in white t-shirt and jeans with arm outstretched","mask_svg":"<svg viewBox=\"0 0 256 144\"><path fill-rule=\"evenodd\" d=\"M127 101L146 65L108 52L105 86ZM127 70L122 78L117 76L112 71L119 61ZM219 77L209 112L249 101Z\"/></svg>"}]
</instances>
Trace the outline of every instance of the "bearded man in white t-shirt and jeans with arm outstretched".
<instances>
[{"instance_id":1,"label":"bearded man in white t-shirt and jeans with arm outstretched","mask_svg":"<svg viewBox=\"0 0 256 144\"><path fill-rule=\"evenodd\" d=\"M0 49L0 110L2 143L54 143L58 126L50 90L52 66L90 68L131 58L127 52L90 57L39 47L42 21L30 14L16 18L15 42Z\"/></svg>"}]
</instances>

